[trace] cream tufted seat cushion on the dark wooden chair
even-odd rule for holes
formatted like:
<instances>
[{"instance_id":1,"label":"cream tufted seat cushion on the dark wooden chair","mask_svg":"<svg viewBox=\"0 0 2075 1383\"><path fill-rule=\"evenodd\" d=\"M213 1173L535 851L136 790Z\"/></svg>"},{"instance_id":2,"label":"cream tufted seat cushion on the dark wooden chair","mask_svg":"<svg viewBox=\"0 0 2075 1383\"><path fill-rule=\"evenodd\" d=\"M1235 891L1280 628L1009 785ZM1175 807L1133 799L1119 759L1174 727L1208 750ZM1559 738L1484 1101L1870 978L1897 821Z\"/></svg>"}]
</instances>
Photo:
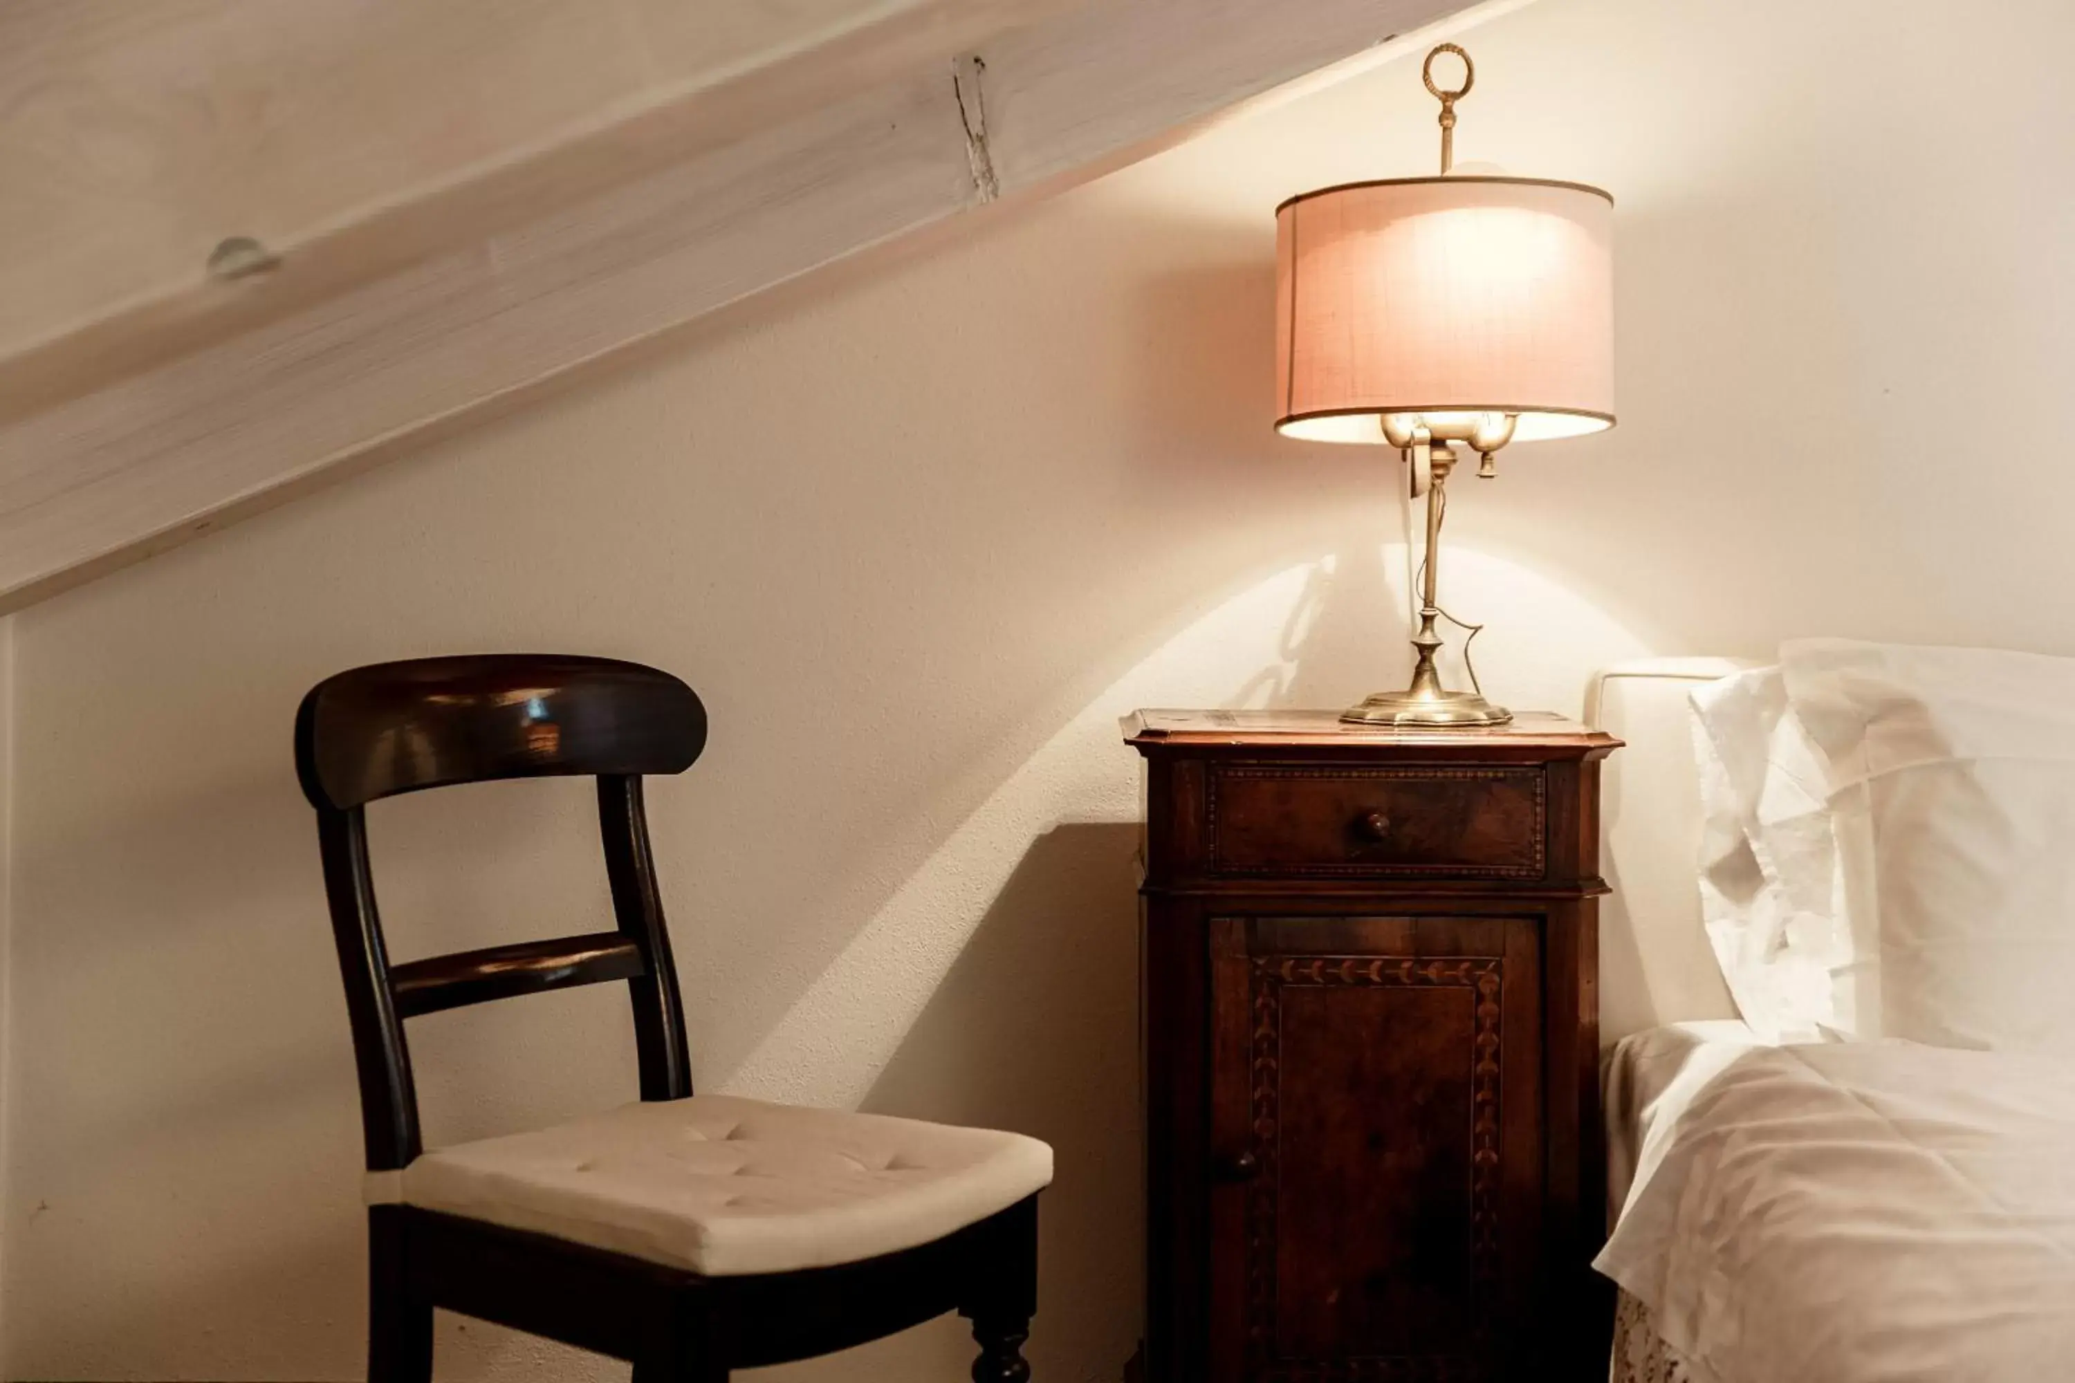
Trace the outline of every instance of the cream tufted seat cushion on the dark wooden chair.
<instances>
[{"instance_id":1,"label":"cream tufted seat cushion on the dark wooden chair","mask_svg":"<svg viewBox=\"0 0 2075 1383\"><path fill-rule=\"evenodd\" d=\"M369 1198L741 1277L928 1244L1050 1182L1023 1134L695 1095L423 1153Z\"/></svg>"}]
</instances>

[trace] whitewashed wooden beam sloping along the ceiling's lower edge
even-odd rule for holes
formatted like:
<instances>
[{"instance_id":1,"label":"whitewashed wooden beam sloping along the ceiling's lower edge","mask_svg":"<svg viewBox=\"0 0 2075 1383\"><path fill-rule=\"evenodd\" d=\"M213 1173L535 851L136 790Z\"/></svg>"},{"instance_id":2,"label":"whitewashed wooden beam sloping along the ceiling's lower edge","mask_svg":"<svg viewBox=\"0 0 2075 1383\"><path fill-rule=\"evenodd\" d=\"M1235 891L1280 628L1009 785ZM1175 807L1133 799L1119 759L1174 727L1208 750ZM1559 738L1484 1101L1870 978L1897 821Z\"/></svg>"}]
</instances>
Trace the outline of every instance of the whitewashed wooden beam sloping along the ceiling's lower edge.
<instances>
[{"instance_id":1,"label":"whitewashed wooden beam sloping along the ceiling's lower edge","mask_svg":"<svg viewBox=\"0 0 2075 1383\"><path fill-rule=\"evenodd\" d=\"M286 247L272 274L46 342L0 361L0 610L996 189L1094 176L1519 2L1040 2L977 50L925 37L917 58L905 31L869 62L847 37ZM838 68L869 81L813 81ZM585 172L600 158L612 176Z\"/></svg>"}]
</instances>

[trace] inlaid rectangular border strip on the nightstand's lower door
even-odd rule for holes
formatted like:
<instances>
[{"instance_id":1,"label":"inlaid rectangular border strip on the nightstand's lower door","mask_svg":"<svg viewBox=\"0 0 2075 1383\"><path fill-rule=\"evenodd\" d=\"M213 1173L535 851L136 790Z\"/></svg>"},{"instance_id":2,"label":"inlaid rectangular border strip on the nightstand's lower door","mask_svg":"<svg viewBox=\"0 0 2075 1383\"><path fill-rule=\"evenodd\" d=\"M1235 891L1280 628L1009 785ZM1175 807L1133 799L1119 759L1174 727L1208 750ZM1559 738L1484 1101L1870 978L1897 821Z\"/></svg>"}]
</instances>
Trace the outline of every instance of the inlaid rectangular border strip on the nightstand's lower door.
<instances>
[{"instance_id":1,"label":"inlaid rectangular border strip on the nightstand's lower door","mask_svg":"<svg viewBox=\"0 0 2075 1383\"><path fill-rule=\"evenodd\" d=\"M1280 1358L1276 1329L1278 1099L1282 1080L1282 991L1326 987L1442 987L1475 991L1471 1033L1471 1277L1473 1339L1459 1356ZM1247 1188L1247 1379L1253 1383L1457 1383L1484 1375L1479 1348L1498 1294L1498 1113L1500 989L1494 956L1255 956L1249 1053L1251 1151L1260 1163Z\"/></svg>"}]
</instances>

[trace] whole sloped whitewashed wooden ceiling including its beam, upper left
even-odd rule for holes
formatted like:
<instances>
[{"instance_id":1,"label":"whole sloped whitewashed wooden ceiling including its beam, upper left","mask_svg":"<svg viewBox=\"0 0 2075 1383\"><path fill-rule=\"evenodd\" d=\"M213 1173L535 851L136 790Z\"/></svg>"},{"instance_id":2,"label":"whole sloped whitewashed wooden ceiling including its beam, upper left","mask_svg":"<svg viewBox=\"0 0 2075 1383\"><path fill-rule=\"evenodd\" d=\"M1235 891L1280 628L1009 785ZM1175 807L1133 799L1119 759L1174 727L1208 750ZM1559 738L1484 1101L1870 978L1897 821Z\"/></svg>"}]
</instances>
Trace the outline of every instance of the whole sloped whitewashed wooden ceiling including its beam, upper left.
<instances>
[{"instance_id":1,"label":"whole sloped whitewashed wooden ceiling including its beam, upper left","mask_svg":"<svg viewBox=\"0 0 2075 1383\"><path fill-rule=\"evenodd\" d=\"M0 6L0 610L1521 2Z\"/></svg>"}]
</instances>

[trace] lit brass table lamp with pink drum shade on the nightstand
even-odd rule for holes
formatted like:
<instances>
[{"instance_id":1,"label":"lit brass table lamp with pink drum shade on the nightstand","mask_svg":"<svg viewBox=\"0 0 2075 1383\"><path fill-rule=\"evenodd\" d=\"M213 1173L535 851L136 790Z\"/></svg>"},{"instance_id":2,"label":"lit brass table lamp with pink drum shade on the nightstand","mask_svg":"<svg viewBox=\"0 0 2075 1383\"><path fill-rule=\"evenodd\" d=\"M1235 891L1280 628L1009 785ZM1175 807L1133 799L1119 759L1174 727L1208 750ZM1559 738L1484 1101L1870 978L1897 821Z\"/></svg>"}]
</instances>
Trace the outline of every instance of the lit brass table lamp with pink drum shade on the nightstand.
<instances>
[{"instance_id":1,"label":"lit brass table lamp with pink drum shade on the nightstand","mask_svg":"<svg viewBox=\"0 0 2075 1383\"><path fill-rule=\"evenodd\" d=\"M1463 85L1434 83L1434 58ZM1276 207L1276 431L1388 444L1428 496L1411 686L1340 715L1382 726L1498 726L1511 711L1444 690L1434 668L1440 525L1457 446L1496 475L1509 442L1614 425L1614 199L1583 182L1453 174L1455 104L1475 68L1455 44L1421 68L1440 100L1440 176L1343 182ZM1432 493L1430 493L1432 491Z\"/></svg>"}]
</instances>

